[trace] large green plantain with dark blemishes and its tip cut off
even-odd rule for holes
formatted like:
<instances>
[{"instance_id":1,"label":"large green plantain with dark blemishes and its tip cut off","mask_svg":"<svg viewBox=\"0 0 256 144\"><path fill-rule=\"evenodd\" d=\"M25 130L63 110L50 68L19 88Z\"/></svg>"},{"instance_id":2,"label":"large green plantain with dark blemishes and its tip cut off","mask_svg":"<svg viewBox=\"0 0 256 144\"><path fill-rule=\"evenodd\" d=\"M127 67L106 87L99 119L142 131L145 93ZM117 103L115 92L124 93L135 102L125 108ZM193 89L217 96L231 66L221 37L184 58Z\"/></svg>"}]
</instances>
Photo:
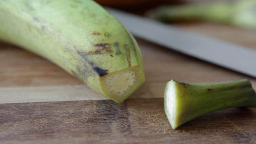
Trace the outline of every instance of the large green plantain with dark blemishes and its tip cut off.
<instances>
[{"instance_id":1,"label":"large green plantain with dark blemishes and its tip cut off","mask_svg":"<svg viewBox=\"0 0 256 144\"><path fill-rule=\"evenodd\" d=\"M92 0L0 0L0 40L49 59L122 103L145 80L134 37Z\"/></svg>"}]
</instances>

